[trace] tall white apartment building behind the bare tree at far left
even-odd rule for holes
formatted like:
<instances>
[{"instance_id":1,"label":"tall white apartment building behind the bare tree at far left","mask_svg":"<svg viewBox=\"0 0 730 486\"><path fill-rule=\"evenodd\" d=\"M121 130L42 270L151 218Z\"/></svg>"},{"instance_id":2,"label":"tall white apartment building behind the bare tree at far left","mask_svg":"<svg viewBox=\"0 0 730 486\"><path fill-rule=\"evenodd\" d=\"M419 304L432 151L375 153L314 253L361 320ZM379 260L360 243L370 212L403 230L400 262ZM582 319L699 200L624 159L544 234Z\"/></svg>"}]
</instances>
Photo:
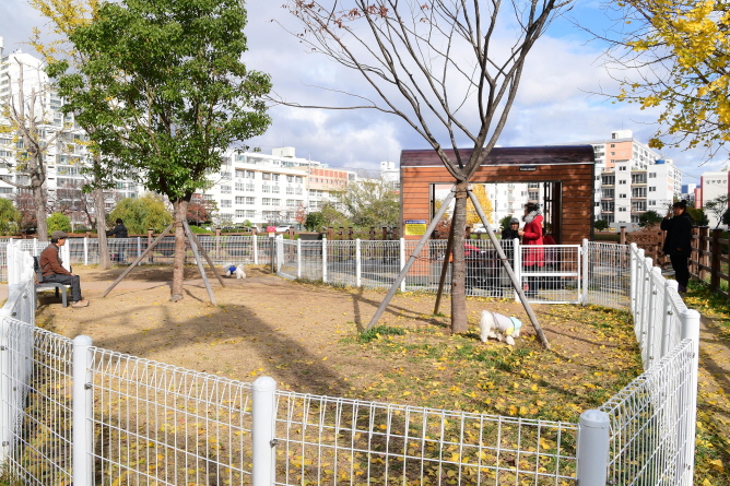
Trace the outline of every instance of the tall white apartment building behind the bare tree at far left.
<instances>
[{"instance_id":1,"label":"tall white apartment building behind the bare tree at far left","mask_svg":"<svg viewBox=\"0 0 730 486\"><path fill-rule=\"evenodd\" d=\"M74 225L89 226L87 213L93 214L93 200L82 188L87 183L83 167L89 163L89 137L73 120L72 115L63 115L63 99L52 90L44 71L42 59L16 50L3 54L0 37L0 107L14 103L17 106L19 80L23 74L24 102L31 103L30 94L37 94L33 109L37 120L42 142L46 145L43 154L46 168L46 190L51 212L63 212ZM10 121L0 115L0 125ZM0 133L0 197L13 199L17 205L30 203L27 190L8 183L28 183L28 176L19 170L19 161L24 155L23 141L13 133ZM136 198L137 183L132 180L116 181L113 190L105 192L106 210L110 211L122 198Z\"/></svg>"}]
</instances>

